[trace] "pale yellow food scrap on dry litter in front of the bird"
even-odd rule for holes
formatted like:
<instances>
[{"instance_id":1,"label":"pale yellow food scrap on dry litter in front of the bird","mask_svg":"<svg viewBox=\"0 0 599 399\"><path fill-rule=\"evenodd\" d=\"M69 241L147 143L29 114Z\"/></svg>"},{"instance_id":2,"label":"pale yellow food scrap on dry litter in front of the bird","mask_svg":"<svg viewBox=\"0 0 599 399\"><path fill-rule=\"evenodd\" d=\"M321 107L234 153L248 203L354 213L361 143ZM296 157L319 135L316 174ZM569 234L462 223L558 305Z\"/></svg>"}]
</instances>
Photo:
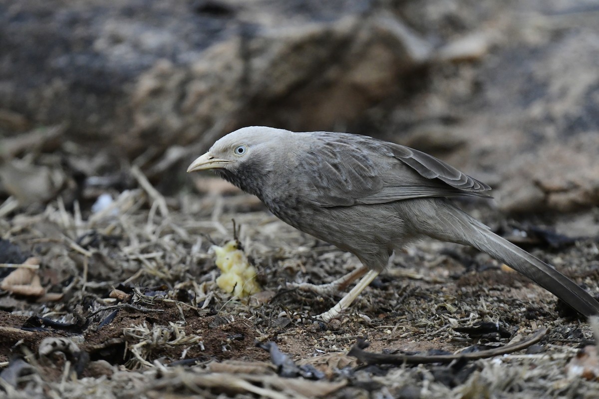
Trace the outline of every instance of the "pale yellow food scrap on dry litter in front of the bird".
<instances>
[{"instance_id":1,"label":"pale yellow food scrap on dry litter in front of the bird","mask_svg":"<svg viewBox=\"0 0 599 399\"><path fill-rule=\"evenodd\" d=\"M216 266L222 274L216 279L216 284L226 293L244 298L261 291L256 282L256 269L241 251L240 243L231 240L223 246L213 245L211 249L216 255Z\"/></svg>"}]
</instances>

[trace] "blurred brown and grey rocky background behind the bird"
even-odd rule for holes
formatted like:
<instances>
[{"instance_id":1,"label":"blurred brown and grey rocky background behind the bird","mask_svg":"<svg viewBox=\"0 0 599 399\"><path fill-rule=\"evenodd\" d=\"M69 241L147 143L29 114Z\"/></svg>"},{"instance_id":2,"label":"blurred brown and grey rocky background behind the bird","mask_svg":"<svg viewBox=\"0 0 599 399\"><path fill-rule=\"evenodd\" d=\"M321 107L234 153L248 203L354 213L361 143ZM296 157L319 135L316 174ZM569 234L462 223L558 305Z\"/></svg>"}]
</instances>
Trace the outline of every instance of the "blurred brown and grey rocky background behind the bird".
<instances>
[{"instance_id":1,"label":"blurred brown and grey rocky background behind the bird","mask_svg":"<svg viewBox=\"0 0 599 399\"><path fill-rule=\"evenodd\" d=\"M599 203L597 7L4 2L0 195L48 200L69 173L131 162L176 191L214 139L260 124L431 152L492 184L504 211L589 209ZM19 173L49 153L67 176L47 171L60 187L36 199Z\"/></svg>"}]
</instances>

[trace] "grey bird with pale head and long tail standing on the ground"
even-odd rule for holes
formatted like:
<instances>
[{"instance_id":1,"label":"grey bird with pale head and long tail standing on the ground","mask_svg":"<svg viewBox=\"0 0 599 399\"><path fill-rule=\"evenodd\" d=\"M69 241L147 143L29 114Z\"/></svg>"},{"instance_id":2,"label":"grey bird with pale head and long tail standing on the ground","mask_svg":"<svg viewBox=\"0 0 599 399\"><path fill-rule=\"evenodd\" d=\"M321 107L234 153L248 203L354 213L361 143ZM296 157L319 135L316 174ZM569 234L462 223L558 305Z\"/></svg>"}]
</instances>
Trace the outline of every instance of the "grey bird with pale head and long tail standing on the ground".
<instances>
[{"instance_id":1,"label":"grey bird with pale head and long tail standing on the ground","mask_svg":"<svg viewBox=\"0 0 599 399\"><path fill-rule=\"evenodd\" d=\"M359 258L361 268L334 282L299 285L331 293L362 277L320 315L323 321L349 307L394 251L424 237L473 246L583 315L599 314L599 303L585 290L447 199L488 197L488 185L412 148L349 133L252 126L219 139L187 172L204 169L255 194L296 229Z\"/></svg>"}]
</instances>

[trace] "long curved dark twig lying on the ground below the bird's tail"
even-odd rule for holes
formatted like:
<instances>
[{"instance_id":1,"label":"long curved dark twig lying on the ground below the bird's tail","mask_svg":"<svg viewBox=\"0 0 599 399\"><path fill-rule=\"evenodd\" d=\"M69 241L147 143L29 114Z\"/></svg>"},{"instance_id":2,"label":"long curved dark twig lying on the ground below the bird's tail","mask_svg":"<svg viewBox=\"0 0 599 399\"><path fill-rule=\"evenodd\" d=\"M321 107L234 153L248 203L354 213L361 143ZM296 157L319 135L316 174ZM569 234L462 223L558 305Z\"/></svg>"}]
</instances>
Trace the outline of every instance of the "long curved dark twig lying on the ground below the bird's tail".
<instances>
[{"instance_id":1,"label":"long curved dark twig lying on the ground below the bird's tail","mask_svg":"<svg viewBox=\"0 0 599 399\"><path fill-rule=\"evenodd\" d=\"M486 351L473 352L468 354L457 354L457 355L385 355L385 354L373 354L366 352L363 349L368 347L368 343L364 340L358 340L358 342L352 346L352 349L347 353L350 356L358 358L362 363L365 364L426 364L426 363L450 363L454 360L478 360L484 358L490 358L512 352L520 351L521 349L528 348L528 346L539 342L547 333L547 328L542 327L535 333L521 342L501 346L501 348L488 349Z\"/></svg>"}]
</instances>

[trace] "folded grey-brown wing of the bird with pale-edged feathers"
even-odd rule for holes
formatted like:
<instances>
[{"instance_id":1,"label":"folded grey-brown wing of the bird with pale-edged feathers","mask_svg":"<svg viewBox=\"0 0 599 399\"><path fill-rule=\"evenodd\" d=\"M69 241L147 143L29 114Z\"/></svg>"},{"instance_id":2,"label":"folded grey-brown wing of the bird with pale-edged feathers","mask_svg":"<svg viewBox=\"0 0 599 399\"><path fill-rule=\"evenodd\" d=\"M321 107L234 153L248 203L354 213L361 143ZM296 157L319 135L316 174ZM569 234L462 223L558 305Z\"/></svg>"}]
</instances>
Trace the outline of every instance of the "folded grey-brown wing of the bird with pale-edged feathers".
<instances>
[{"instance_id":1,"label":"folded grey-brown wing of the bird with pale-edged feathers","mask_svg":"<svg viewBox=\"0 0 599 399\"><path fill-rule=\"evenodd\" d=\"M412 148L348 133L314 132L299 159L314 175L320 206L386 203L422 197L480 196L491 188ZM422 179L422 177L426 179Z\"/></svg>"}]
</instances>

